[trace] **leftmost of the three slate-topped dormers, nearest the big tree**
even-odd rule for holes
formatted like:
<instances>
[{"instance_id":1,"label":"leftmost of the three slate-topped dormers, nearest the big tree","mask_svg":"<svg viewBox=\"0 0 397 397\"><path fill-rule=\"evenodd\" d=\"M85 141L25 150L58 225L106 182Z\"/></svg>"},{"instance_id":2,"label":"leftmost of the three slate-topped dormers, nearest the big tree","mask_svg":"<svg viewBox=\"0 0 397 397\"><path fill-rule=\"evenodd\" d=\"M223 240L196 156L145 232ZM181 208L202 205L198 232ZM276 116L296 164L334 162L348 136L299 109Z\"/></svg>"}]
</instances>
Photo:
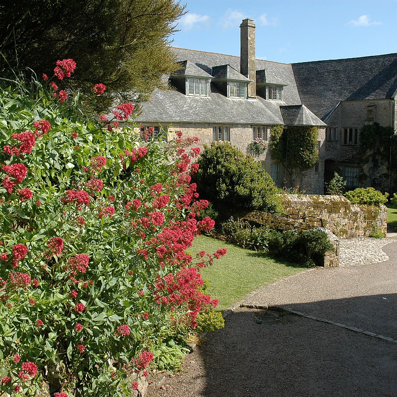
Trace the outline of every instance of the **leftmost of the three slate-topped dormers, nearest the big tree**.
<instances>
[{"instance_id":1,"label":"leftmost of the three slate-topped dormers, nearest the big tree","mask_svg":"<svg viewBox=\"0 0 397 397\"><path fill-rule=\"evenodd\" d=\"M212 76L191 61L178 62L180 68L170 76L170 85L185 95L208 96Z\"/></svg>"}]
</instances>

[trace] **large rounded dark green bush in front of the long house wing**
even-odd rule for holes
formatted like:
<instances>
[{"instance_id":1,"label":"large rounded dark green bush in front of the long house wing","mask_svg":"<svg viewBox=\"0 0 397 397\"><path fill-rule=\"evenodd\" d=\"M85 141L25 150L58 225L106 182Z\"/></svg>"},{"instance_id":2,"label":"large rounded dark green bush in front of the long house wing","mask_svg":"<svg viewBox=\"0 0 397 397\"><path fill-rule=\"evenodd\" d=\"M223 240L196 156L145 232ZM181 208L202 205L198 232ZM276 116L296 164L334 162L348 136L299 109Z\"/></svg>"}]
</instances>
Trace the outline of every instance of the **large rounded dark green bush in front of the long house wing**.
<instances>
[{"instance_id":1,"label":"large rounded dark green bush in front of the long house wing","mask_svg":"<svg viewBox=\"0 0 397 397\"><path fill-rule=\"evenodd\" d=\"M276 211L280 199L272 178L253 157L245 156L229 142L204 145L199 171L192 178L200 197L219 213L238 208Z\"/></svg>"}]
</instances>

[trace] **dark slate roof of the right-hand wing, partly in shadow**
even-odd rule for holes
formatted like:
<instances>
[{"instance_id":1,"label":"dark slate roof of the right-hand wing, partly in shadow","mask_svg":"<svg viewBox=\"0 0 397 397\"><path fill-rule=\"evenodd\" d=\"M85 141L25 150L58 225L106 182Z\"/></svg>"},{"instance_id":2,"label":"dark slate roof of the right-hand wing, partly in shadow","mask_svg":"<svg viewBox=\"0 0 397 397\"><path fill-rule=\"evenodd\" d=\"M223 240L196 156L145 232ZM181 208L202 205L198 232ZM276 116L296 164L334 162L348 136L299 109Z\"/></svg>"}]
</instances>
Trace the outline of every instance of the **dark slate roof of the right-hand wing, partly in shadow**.
<instances>
[{"instance_id":1,"label":"dark slate roof of the right-hand wing, partly in shadow","mask_svg":"<svg viewBox=\"0 0 397 397\"><path fill-rule=\"evenodd\" d=\"M397 53L292 64L299 96L326 120L340 101L394 98Z\"/></svg>"}]
</instances>

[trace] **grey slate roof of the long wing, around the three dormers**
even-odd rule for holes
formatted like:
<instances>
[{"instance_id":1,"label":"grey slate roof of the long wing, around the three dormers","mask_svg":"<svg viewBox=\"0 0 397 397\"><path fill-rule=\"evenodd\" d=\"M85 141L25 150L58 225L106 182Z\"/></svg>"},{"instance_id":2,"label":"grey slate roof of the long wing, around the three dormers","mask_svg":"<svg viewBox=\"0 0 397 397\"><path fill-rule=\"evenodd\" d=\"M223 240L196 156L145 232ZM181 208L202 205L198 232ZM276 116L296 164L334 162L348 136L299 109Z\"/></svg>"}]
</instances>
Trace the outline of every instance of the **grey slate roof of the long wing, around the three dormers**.
<instances>
[{"instance_id":1,"label":"grey slate roof of the long wing, around the three dormers","mask_svg":"<svg viewBox=\"0 0 397 397\"><path fill-rule=\"evenodd\" d=\"M172 48L172 50L178 61L186 62L186 68L193 64L212 75L213 67L217 71L224 70L224 66L228 66L226 73L229 73L229 76L237 76L238 73L239 81L242 81L242 77L245 81L248 80L238 72L240 57L183 48ZM301 105L292 66L264 60L256 60L256 63L257 69L266 69L266 77L271 78L272 82L286 85L283 90L283 102L266 101L259 96L257 99L227 98L212 83L208 97L189 96L178 90L155 89L151 100L141 105L142 113L138 116L138 120L163 125L169 123L282 125L284 121L280 105ZM223 66L223 69L215 66Z\"/></svg>"}]
</instances>

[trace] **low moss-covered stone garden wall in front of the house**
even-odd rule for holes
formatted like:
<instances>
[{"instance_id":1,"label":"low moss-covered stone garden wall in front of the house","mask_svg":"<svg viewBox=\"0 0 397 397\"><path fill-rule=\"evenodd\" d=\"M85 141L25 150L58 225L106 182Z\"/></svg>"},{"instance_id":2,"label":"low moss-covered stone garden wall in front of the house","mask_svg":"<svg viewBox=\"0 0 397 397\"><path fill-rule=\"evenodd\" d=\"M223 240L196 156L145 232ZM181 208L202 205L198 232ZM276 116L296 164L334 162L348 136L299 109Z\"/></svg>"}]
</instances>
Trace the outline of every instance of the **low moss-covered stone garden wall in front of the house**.
<instances>
[{"instance_id":1,"label":"low moss-covered stone garden wall in front of the house","mask_svg":"<svg viewBox=\"0 0 397 397\"><path fill-rule=\"evenodd\" d=\"M375 231L386 236L387 208L383 204L352 204L344 196L280 196L286 214L322 218L324 227L340 238L368 237Z\"/></svg>"}]
</instances>

